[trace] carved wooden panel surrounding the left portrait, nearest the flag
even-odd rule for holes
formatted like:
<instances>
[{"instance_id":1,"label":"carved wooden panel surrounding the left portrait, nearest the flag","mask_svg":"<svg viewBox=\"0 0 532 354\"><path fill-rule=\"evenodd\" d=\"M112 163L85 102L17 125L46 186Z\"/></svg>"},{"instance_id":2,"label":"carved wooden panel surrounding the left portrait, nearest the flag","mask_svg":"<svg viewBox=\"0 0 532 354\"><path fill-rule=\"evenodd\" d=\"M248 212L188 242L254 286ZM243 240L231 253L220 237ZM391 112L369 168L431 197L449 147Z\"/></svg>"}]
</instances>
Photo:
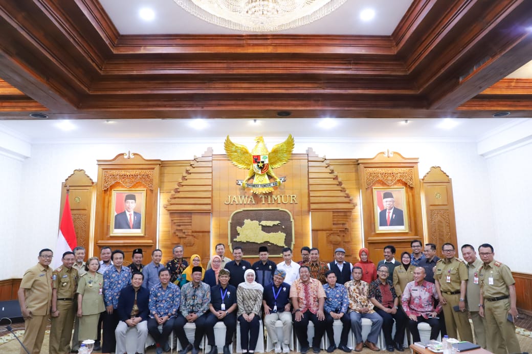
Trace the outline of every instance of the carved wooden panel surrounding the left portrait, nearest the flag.
<instances>
[{"instance_id":1,"label":"carved wooden panel surrounding the left portrait, nearest the flag","mask_svg":"<svg viewBox=\"0 0 532 354\"><path fill-rule=\"evenodd\" d=\"M103 246L120 249L127 254L142 248L145 258L157 244L157 197L160 186L161 160L146 160L137 153L127 158L118 154L112 160L97 160L98 181L96 184L95 250L96 255ZM112 191L124 188L146 189L145 235L111 236ZM146 262L146 261L144 261Z\"/></svg>"}]
</instances>

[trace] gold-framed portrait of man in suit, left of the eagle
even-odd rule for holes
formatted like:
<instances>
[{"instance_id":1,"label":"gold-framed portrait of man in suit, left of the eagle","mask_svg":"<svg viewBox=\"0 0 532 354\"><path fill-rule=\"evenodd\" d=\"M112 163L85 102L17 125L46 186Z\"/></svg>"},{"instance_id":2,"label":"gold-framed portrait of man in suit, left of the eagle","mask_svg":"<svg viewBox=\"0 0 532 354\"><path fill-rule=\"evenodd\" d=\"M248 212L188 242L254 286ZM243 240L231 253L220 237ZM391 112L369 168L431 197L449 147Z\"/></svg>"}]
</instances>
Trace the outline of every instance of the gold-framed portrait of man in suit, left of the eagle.
<instances>
[{"instance_id":1,"label":"gold-framed portrait of man in suit, left of the eagle","mask_svg":"<svg viewBox=\"0 0 532 354\"><path fill-rule=\"evenodd\" d=\"M144 236L146 190L113 190L110 209L111 236Z\"/></svg>"}]
</instances>

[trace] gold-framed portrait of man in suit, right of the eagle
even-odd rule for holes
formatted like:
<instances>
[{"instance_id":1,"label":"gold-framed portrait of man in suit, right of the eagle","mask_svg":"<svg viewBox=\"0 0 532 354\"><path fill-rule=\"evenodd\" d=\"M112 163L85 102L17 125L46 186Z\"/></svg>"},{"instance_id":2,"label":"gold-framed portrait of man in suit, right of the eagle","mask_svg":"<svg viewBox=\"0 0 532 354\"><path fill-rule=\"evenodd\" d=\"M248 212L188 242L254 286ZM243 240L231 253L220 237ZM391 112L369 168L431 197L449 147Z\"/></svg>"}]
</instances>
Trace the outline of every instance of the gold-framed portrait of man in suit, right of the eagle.
<instances>
[{"instance_id":1,"label":"gold-framed portrait of man in suit, right of the eagle","mask_svg":"<svg viewBox=\"0 0 532 354\"><path fill-rule=\"evenodd\" d=\"M408 205L404 187L373 188L376 232L408 232Z\"/></svg>"}]
</instances>

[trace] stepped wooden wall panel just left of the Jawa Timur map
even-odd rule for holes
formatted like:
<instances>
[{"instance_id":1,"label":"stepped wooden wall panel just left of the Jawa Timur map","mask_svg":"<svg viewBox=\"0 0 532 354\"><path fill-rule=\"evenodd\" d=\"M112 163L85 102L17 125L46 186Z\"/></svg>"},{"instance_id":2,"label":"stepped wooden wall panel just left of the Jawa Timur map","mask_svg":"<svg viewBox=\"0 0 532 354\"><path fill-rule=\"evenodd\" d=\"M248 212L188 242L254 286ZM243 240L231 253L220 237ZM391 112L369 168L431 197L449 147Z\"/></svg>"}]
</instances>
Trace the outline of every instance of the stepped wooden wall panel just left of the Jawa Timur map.
<instances>
[{"instance_id":1,"label":"stepped wooden wall panel just left of the Jawa Timur map","mask_svg":"<svg viewBox=\"0 0 532 354\"><path fill-rule=\"evenodd\" d=\"M173 243L184 246L185 257L199 254L207 265L210 256L212 210L212 149L188 161L174 190L163 205L170 216ZM170 248L170 246L168 246Z\"/></svg>"}]
</instances>

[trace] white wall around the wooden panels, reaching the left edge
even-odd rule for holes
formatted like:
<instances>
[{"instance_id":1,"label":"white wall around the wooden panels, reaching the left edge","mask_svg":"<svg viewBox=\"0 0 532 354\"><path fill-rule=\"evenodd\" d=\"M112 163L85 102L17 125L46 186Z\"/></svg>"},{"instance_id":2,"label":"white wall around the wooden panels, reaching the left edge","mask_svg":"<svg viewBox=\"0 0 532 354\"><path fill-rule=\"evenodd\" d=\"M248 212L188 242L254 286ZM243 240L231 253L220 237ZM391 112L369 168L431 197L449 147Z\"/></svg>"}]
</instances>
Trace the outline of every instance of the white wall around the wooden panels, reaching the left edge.
<instances>
[{"instance_id":1,"label":"white wall around the wooden panels, reaching the left edge","mask_svg":"<svg viewBox=\"0 0 532 354\"><path fill-rule=\"evenodd\" d=\"M265 138L269 147L282 138ZM253 145L252 138L238 141ZM4 175L3 184L14 186L9 195L10 207L5 207L7 215L4 223L13 235L11 240L24 245L24 254L29 257L6 262L10 267L0 269L0 279L21 277L24 269L35 264L37 252L42 248L54 248L59 223L61 183L74 169L85 169L87 175L96 181L97 159L112 159L127 150L142 154L145 159L186 160L201 155L207 147L213 147L215 154L223 154L223 137L217 141L182 141L177 143L121 143L121 144L34 144L31 158L22 162L0 161L4 168L7 163L18 174ZM308 147L320 156L329 158L372 158L378 152L390 149L404 157L418 157L420 178L431 166L440 166L452 178L456 210L458 243L478 245L491 242L498 246L495 236L495 210L479 210L478 205L491 205L493 193L488 178L486 160L478 155L475 143L448 141L355 141L323 138L297 138L295 153L304 153ZM4 169L3 169L4 170ZM504 177L504 176L503 176ZM21 186L31 186L30 188ZM19 202L20 201L20 202ZM27 207L36 205L39 212L35 220L29 220ZM20 210L20 213L14 212ZM22 210L23 213L22 213ZM2 215L5 215L2 213ZM5 228L2 227L4 234ZM7 236L7 234L6 234ZM2 236L2 239L5 239ZM13 245L15 243L12 243ZM17 249L18 246L17 246ZM1 249L0 257L15 257L14 249ZM35 258L32 255L35 254ZM500 253L498 253L500 254ZM501 259L503 260L503 259ZM506 261L506 260L504 260ZM518 269L514 269L518 270ZM521 271L526 271L521 268Z\"/></svg>"}]
</instances>

